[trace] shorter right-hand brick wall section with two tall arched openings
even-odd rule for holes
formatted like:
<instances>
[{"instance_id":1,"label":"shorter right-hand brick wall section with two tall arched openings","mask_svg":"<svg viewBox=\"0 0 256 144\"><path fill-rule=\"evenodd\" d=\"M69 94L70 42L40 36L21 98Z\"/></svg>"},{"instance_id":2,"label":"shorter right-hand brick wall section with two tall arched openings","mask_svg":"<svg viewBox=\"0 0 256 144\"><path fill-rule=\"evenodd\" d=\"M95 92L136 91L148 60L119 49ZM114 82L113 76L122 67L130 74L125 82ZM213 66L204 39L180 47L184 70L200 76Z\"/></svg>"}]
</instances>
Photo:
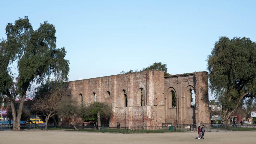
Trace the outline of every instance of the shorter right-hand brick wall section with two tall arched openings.
<instances>
[{"instance_id":1,"label":"shorter right-hand brick wall section with two tall arched openings","mask_svg":"<svg viewBox=\"0 0 256 144\"><path fill-rule=\"evenodd\" d=\"M195 93L195 107L190 107L191 90ZM164 79L164 91L166 122L182 124L210 122L207 72L166 76ZM176 94L175 108L172 107L171 91Z\"/></svg>"}]
</instances>

